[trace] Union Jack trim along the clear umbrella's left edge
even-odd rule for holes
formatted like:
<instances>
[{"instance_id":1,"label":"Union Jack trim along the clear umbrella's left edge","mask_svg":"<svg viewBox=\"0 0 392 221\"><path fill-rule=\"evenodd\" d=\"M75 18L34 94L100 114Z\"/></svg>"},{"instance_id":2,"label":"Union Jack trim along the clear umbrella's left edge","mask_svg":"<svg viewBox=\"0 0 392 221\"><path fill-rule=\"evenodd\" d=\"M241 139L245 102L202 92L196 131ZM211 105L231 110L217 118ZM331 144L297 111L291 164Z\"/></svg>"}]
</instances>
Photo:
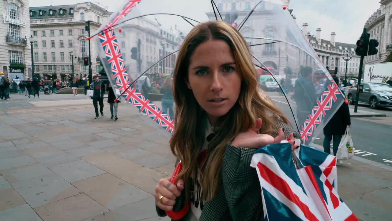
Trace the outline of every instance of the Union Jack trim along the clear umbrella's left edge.
<instances>
[{"instance_id":1,"label":"Union Jack trim along the clear umbrella's left edge","mask_svg":"<svg viewBox=\"0 0 392 221\"><path fill-rule=\"evenodd\" d=\"M109 24L107 24L106 27L118 24L118 22L120 22L141 1L142 0L130 0L127 2L123 9L111 20L111 22L109 22ZM172 134L174 132L173 120L171 120L167 114L163 113L163 111L149 99L145 99L145 97L135 88L129 87L131 82L129 80L127 69L125 68L122 53L120 51L120 46L118 45L113 29L105 29L104 31L101 31L98 34L98 38L110 66L111 73L108 74L111 74L112 77L109 77L109 79L114 79L119 92L123 93L125 100L131 101L133 105L145 112L147 116Z\"/></svg>"}]
</instances>

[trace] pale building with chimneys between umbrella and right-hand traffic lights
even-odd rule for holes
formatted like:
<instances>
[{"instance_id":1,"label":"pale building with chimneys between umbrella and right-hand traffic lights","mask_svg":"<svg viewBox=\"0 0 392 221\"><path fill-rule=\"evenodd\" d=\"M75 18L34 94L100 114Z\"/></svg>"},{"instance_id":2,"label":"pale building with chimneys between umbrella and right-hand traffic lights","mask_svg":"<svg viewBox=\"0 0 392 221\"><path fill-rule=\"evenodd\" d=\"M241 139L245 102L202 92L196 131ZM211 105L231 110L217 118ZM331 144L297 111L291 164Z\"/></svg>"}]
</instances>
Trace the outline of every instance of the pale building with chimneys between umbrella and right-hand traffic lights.
<instances>
[{"instance_id":1,"label":"pale building with chimneys between umbrella and right-hand traffic lights","mask_svg":"<svg viewBox=\"0 0 392 221\"><path fill-rule=\"evenodd\" d=\"M328 66L330 70L335 70L335 67L338 67L339 78L344 78L346 73L346 61L343 59L350 59L350 57L352 58L347 61L347 78L358 77L360 57L355 54L356 44L336 42L335 32L331 33L329 40L321 39L321 28L316 29L316 36L310 35L308 23L303 23L302 31L307 33L305 37L309 39L321 62Z\"/></svg>"}]
</instances>

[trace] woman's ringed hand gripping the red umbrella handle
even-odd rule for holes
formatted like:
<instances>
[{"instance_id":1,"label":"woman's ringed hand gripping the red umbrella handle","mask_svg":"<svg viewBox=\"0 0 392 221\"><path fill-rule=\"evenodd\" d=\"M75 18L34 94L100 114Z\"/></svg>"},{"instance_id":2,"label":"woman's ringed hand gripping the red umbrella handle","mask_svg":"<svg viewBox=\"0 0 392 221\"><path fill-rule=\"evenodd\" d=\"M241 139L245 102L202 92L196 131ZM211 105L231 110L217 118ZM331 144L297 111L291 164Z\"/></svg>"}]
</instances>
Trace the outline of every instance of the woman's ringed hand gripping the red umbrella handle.
<instances>
[{"instance_id":1,"label":"woman's ringed hand gripping the red umbrella handle","mask_svg":"<svg viewBox=\"0 0 392 221\"><path fill-rule=\"evenodd\" d=\"M177 184L171 184L170 179L160 179L155 187L155 204L164 211L173 210L176 198L180 197L181 191L184 189L184 181L182 179L178 179Z\"/></svg>"}]
</instances>

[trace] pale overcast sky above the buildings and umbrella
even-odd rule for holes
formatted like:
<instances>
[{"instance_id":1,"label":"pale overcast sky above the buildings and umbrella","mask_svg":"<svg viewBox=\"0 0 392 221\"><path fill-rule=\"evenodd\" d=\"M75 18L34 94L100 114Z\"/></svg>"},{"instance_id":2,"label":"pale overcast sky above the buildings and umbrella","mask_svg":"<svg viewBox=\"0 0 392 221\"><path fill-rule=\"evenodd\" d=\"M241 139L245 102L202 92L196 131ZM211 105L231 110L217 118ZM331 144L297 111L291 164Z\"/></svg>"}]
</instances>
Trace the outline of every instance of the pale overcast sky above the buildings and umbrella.
<instances>
[{"instance_id":1,"label":"pale overcast sky above the buildings and umbrella","mask_svg":"<svg viewBox=\"0 0 392 221\"><path fill-rule=\"evenodd\" d=\"M156 1L160 3L170 2L165 0ZM187 2L186 10L188 12L186 15L192 14L192 11L208 11L210 6L209 0L177 1ZM252 1L257 2L258 0ZM58 2L60 1L30 0L30 6L60 5ZM77 2L83 1L67 0L67 4L76 4ZM107 6L109 11L115 11L123 3L123 0L92 0L91 2L99 2ZM174 2L176 1L174 0ZM192 6L189 6L189 4L192 4ZM186 4L182 4L182 6L185 7ZM379 8L379 0L290 0L289 7L294 9L293 14L297 18L299 28L302 29L302 24L307 22L309 25L308 31L312 35L316 34L316 28L321 28L321 38L323 39L329 40L331 32L335 32L335 41L355 44L362 33L366 20Z\"/></svg>"}]
</instances>

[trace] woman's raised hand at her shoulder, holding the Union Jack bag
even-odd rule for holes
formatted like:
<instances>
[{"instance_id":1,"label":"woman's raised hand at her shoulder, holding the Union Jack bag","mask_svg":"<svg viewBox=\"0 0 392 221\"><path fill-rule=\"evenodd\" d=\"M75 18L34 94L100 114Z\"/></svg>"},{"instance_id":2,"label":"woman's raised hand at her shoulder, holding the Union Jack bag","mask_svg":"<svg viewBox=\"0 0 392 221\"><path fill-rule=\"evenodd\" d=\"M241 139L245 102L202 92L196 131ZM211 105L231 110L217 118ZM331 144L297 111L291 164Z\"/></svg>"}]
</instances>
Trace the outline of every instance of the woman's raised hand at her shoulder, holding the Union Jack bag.
<instances>
[{"instance_id":1,"label":"woman's raised hand at her shoulder, holding the Union Jack bag","mask_svg":"<svg viewBox=\"0 0 392 221\"><path fill-rule=\"evenodd\" d=\"M257 132L261 128L262 123L263 122L261 121L261 119L258 118L256 120L255 127L250 129L249 131L238 134L236 138L234 138L231 145L235 147L256 149L269 144L278 144L285 139L285 133L283 133L282 128L279 129L279 135L275 138L268 134L258 134ZM294 147L294 134L290 134L289 140L289 143L292 144L292 149L295 149L297 146Z\"/></svg>"}]
</instances>

